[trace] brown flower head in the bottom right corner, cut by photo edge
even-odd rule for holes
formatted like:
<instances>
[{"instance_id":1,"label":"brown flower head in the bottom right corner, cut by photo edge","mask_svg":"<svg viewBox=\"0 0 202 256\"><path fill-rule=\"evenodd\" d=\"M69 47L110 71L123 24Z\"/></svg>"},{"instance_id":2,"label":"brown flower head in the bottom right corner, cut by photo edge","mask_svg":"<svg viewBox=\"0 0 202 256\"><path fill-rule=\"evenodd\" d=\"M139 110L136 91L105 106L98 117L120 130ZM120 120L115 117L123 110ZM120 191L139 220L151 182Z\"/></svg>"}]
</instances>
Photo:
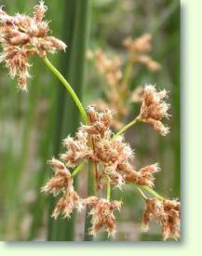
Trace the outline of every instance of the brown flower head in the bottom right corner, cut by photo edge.
<instances>
[{"instance_id":1,"label":"brown flower head in the bottom right corner, cut by photo edge","mask_svg":"<svg viewBox=\"0 0 202 256\"><path fill-rule=\"evenodd\" d=\"M147 231L149 222L154 219L162 225L164 239L180 237L181 204L176 200L149 198L143 213L143 230Z\"/></svg>"}]
</instances>

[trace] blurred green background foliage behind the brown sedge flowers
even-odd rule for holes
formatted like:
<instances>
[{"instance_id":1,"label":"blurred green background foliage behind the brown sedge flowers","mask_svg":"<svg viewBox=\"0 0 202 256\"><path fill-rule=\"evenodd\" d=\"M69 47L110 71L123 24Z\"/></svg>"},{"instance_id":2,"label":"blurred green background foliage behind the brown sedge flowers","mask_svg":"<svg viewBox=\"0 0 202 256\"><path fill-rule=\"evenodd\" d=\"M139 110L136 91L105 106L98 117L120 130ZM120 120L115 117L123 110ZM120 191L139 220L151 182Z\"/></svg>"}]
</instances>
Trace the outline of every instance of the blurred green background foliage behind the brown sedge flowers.
<instances>
[{"instance_id":1,"label":"blurred green background foliage behind the brown sedge flowers","mask_svg":"<svg viewBox=\"0 0 202 256\"><path fill-rule=\"evenodd\" d=\"M9 14L31 13L34 0L5 0ZM105 52L125 55L126 36L153 35L152 57L162 69L150 73L138 67L131 87L145 83L167 88L171 104L166 138L146 125L127 132L135 149L136 165L159 162L156 191L166 197L180 197L180 2L176 0L60 0L46 1L47 20L54 36L69 46L65 54L50 57L61 73L82 97L85 105L101 96L101 81L95 68L85 58L88 48L101 47ZM17 90L7 70L0 69L0 239L1 240L82 240L84 216L55 222L49 218L54 201L42 195L40 187L51 174L47 159L61 152L61 140L74 135L79 115L73 101L39 58L32 60L33 78L28 93ZM138 105L128 120L137 113ZM86 194L84 172L77 189ZM149 233L140 232L143 202L132 186L113 197L121 198L124 207L117 214L115 240L161 240L154 223ZM99 236L98 239L102 239Z\"/></svg>"}]
</instances>

